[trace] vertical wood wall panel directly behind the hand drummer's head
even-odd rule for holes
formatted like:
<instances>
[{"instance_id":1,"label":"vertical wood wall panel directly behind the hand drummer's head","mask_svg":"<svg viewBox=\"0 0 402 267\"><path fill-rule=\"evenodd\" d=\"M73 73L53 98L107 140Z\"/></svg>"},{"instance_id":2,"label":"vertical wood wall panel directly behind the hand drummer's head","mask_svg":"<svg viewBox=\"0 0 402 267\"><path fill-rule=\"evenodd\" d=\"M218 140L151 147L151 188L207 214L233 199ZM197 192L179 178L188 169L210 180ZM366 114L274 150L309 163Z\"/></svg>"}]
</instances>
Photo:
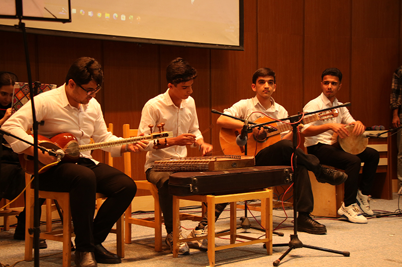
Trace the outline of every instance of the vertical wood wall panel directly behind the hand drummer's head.
<instances>
[{"instance_id":1,"label":"vertical wood wall panel directly behind the hand drummer's head","mask_svg":"<svg viewBox=\"0 0 402 267\"><path fill-rule=\"evenodd\" d=\"M342 88L337 98L349 102L351 2L306 0L305 13L304 104L321 94L321 74L327 68L342 72Z\"/></svg>"}]
</instances>

